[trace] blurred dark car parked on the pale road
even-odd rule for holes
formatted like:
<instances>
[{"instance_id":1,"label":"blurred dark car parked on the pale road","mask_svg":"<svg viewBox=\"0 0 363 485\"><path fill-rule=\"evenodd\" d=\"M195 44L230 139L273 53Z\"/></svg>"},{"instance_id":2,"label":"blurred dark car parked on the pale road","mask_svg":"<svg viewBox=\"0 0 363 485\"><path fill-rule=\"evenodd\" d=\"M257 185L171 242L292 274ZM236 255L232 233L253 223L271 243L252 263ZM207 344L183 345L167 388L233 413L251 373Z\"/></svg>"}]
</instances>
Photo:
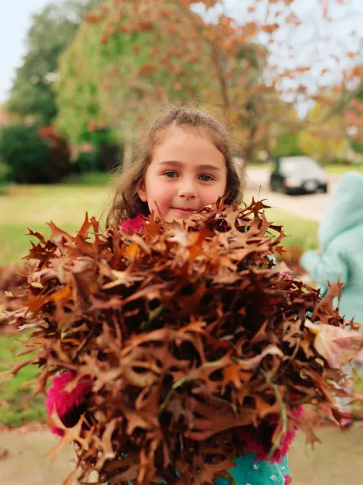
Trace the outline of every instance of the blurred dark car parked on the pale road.
<instances>
[{"instance_id":1,"label":"blurred dark car parked on the pale road","mask_svg":"<svg viewBox=\"0 0 363 485\"><path fill-rule=\"evenodd\" d=\"M289 195L327 193L327 175L312 159L306 156L278 158L270 178L272 192Z\"/></svg>"}]
</instances>

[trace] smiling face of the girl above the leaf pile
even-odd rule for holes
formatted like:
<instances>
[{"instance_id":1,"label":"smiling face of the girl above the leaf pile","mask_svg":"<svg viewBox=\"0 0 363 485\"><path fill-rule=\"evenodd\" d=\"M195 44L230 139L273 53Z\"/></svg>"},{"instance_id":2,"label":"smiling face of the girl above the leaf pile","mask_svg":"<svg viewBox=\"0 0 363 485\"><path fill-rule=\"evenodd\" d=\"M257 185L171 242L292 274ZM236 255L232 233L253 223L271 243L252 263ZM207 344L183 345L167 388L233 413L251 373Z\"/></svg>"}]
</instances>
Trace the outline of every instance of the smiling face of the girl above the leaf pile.
<instances>
[{"instance_id":1,"label":"smiling face of the girl above the leaf pile","mask_svg":"<svg viewBox=\"0 0 363 485\"><path fill-rule=\"evenodd\" d=\"M154 148L138 193L168 222L217 201L226 192L224 155L207 135L195 128L169 128L164 141Z\"/></svg>"}]
</instances>

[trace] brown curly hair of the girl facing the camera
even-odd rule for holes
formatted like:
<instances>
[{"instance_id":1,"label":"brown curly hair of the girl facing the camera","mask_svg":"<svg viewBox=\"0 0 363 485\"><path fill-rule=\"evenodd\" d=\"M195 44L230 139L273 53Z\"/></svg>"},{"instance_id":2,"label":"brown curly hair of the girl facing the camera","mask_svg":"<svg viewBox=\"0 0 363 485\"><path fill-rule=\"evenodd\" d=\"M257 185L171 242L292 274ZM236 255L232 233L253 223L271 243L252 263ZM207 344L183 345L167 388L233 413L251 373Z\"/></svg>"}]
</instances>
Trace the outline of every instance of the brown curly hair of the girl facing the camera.
<instances>
[{"instance_id":1,"label":"brown curly hair of the girl facing the camera","mask_svg":"<svg viewBox=\"0 0 363 485\"><path fill-rule=\"evenodd\" d=\"M137 187L144 180L146 170L151 163L155 146L162 142L162 134L171 126L196 128L207 134L218 150L224 155L227 165L226 203L239 203L242 200L242 168L234 160L232 137L224 124L215 116L196 108L169 108L158 116L149 127L146 136L141 136L134 146L131 163L126 168L119 168L116 192L111 208L106 217L106 228L117 227L139 213L149 215L147 203L139 198Z\"/></svg>"}]
</instances>

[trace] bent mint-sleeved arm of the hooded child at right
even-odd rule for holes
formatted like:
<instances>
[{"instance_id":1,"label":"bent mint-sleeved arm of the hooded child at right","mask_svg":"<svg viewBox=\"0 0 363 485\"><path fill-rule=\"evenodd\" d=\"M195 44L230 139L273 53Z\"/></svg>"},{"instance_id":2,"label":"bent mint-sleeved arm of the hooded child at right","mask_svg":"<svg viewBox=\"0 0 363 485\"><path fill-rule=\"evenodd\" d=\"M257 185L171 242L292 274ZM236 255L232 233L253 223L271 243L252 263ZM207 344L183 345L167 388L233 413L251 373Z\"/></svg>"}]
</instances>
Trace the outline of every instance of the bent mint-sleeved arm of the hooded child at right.
<instances>
[{"instance_id":1,"label":"bent mint-sleeved arm of the hooded child at right","mask_svg":"<svg viewBox=\"0 0 363 485\"><path fill-rule=\"evenodd\" d=\"M348 268L339 252L308 251L302 255L300 265L314 278L320 287L327 287L327 282L347 284Z\"/></svg>"}]
</instances>

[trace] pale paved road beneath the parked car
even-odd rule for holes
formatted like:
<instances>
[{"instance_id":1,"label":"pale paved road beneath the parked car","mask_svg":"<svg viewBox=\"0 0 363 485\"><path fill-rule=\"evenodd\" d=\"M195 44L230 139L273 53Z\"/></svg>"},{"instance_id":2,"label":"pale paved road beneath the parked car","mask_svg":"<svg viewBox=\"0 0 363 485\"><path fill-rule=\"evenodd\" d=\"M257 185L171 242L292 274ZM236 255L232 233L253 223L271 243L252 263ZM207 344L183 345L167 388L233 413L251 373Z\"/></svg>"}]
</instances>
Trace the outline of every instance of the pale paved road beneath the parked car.
<instances>
[{"instance_id":1,"label":"pale paved road beneath the parked car","mask_svg":"<svg viewBox=\"0 0 363 485\"><path fill-rule=\"evenodd\" d=\"M247 169L246 195L247 198L253 195L255 198L267 199L268 205L274 208L286 210L304 219L320 222L329 204L330 194L338 180L339 176L329 175L329 193L327 194L284 195L269 190L268 169L249 168Z\"/></svg>"}]
</instances>

